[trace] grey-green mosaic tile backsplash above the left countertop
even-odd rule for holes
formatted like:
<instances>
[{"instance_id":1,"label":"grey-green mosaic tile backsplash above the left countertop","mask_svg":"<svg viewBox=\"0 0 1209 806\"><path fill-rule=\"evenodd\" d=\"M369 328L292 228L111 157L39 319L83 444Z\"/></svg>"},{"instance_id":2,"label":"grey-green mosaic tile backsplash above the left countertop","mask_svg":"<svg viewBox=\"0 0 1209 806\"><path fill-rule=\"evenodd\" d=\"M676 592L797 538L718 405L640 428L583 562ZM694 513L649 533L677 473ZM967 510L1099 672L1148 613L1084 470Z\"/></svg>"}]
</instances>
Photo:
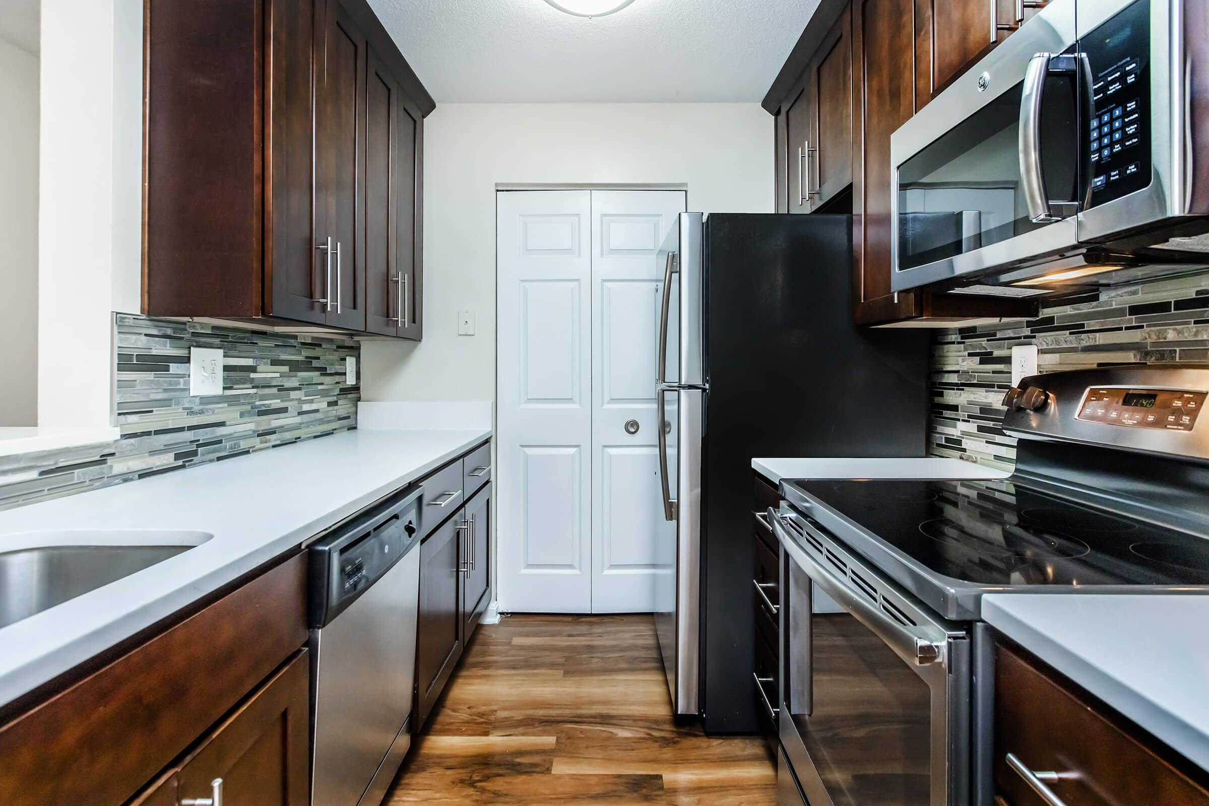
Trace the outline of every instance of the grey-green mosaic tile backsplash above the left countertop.
<instances>
[{"instance_id":1,"label":"grey-green mosaic tile backsplash above the left countertop","mask_svg":"<svg viewBox=\"0 0 1209 806\"><path fill-rule=\"evenodd\" d=\"M115 317L121 439L0 457L0 509L357 428L351 338ZM189 394L189 348L222 350L222 394Z\"/></svg>"}]
</instances>

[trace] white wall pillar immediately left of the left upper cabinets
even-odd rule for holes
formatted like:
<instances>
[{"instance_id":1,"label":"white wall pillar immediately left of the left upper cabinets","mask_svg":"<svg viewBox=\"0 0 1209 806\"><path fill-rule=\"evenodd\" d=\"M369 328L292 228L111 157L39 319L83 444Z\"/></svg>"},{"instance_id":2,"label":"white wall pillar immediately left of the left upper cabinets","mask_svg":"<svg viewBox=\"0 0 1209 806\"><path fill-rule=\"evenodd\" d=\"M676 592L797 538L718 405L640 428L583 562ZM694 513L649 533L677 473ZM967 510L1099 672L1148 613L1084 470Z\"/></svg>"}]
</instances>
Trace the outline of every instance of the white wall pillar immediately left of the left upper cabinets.
<instances>
[{"instance_id":1,"label":"white wall pillar immediately left of the left upper cabinets","mask_svg":"<svg viewBox=\"0 0 1209 806\"><path fill-rule=\"evenodd\" d=\"M112 421L112 312L138 311L141 4L42 4L37 424Z\"/></svg>"}]
</instances>

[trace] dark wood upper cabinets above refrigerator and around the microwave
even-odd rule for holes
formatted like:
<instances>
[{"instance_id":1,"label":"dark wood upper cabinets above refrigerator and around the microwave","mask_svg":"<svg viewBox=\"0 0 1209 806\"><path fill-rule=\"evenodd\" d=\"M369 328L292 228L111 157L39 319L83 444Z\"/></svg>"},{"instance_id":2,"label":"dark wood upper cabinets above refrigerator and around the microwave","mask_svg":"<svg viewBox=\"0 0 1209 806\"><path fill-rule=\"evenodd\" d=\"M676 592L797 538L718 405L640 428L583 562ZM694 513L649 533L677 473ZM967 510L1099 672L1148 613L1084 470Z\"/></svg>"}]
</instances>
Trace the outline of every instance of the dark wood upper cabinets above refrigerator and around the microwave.
<instances>
[{"instance_id":1,"label":"dark wood upper cabinets above refrigerator and around the microwave","mask_svg":"<svg viewBox=\"0 0 1209 806\"><path fill-rule=\"evenodd\" d=\"M1036 315L1036 302L1028 300L890 290L895 226L890 135L931 98L920 87L931 92L933 86L933 42L944 69L958 75L977 57L967 51L978 36L990 46L990 4L985 0L980 0L978 31L967 30L978 17L977 5L972 0L822 0L764 98L764 109L776 116L774 146L776 164L782 167L776 174L777 210L852 214L852 315L857 324L945 327ZM1006 0L999 5L1014 8ZM798 149L803 149L800 160Z\"/></svg>"}]
</instances>

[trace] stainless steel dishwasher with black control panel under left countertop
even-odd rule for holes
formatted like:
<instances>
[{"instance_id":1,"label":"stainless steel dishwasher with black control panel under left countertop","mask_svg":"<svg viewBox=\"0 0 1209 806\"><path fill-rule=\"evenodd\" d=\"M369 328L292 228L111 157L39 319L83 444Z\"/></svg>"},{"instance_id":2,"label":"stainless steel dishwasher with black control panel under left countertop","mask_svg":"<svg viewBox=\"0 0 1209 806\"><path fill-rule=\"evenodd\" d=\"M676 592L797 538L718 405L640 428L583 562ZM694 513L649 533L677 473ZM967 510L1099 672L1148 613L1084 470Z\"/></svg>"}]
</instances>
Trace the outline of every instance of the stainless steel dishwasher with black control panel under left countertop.
<instances>
[{"instance_id":1,"label":"stainless steel dishwasher with black control panel under left countertop","mask_svg":"<svg viewBox=\"0 0 1209 806\"><path fill-rule=\"evenodd\" d=\"M376 806L411 746L421 492L310 547L314 806Z\"/></svg>"}]
</instances>

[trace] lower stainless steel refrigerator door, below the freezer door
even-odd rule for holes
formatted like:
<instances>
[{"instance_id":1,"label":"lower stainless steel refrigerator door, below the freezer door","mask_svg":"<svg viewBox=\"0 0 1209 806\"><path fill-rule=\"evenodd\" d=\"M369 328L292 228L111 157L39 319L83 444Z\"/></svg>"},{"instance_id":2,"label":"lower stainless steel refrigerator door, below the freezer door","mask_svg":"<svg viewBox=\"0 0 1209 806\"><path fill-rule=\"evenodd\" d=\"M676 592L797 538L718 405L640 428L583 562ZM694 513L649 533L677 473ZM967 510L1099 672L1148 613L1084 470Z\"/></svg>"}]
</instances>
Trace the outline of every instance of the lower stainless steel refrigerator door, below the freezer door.
<instances>
[{"instance_id":1,"label":"lower stainless steel refrigerator door, below the freezer door","mask_svg":"<svg viewBox=\"0 0 1209 806\"><path fill-rule=\"evenodd\" d=\"M701 425L705 393L661 389L664 439L660 475L665 504L675 511L675 540L660 545L659 561L675 573L655 579L655 633L673 713L699 713L701 602Z\"/></svg>"}]
</instances>

